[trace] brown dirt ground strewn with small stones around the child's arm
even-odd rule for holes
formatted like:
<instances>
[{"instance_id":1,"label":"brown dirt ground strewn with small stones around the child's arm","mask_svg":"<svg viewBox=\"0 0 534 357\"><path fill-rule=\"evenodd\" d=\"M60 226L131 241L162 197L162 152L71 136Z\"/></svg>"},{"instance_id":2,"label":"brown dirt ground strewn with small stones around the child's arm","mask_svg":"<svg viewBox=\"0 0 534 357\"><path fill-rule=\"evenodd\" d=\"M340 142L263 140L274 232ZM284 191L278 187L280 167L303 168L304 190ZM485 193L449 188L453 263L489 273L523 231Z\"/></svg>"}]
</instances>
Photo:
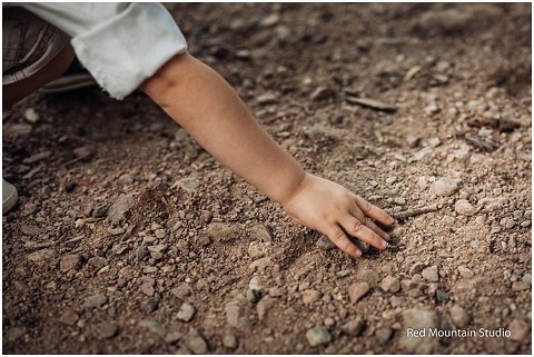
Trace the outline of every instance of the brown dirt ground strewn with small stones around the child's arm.
<instances>
[{"instance_id":1,"label":"brown dirt ground strewn with small stones around the child's arm","mask_svg":"<svg viewBox=\"0 0 534 357\"><path fill-rule=\"evenodd\" d=\"M2 118L3 353L531 353L530 3L167 8L394 244L332 249L140 92L34 93Z\"/></svg>"}]
</instances>

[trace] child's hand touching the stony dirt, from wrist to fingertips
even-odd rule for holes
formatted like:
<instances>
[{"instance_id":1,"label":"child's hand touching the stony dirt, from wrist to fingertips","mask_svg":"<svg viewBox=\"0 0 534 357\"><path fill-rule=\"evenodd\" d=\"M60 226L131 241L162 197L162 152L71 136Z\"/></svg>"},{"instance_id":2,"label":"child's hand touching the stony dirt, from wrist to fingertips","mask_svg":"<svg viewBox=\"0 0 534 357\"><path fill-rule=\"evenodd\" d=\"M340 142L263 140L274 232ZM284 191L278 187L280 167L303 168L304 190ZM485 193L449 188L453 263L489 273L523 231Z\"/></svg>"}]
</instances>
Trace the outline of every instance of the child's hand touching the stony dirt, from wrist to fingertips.
<instances>
[{"instance_id":1,"label":"child's hand touching the stony dirt, from wrist to fingertips","mask_svg":"<svg viewBox=\"0 0 534 357\"><path fill-rule=\"evenodd\" d=\"M387 226L394 222L385 211L343 186L309 173L306 173L297 194L283 207L296 222L326 235L353 257L359 257L362 251L347 235L382 250L387 247L389 236L373 219Z\"/></svg>"}]
</instances>

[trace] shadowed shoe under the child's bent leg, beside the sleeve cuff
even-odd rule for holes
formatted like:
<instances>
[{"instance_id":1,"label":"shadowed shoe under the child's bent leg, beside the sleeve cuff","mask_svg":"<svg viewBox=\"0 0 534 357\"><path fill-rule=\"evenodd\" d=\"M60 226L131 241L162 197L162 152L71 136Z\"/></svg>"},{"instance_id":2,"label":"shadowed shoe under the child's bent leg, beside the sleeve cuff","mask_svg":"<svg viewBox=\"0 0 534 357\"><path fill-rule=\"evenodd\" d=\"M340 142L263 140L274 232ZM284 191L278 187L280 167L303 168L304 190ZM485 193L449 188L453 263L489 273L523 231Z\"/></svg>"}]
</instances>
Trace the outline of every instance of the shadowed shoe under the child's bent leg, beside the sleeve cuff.
<instances>
[{"instance_id":1,"label":"shadowed shoe under the child's bent leg, beside the sleeve cuff","mask_svg":"<svg viewBox=\"0 0 534 357\"><path fill-rule=\"evenodd\" d=\"M44 95L56 95L97 85L98 83L95 78L92 78L87 69L81 66L80 61L75 58L72 63L70 63L69 68L63 75L61 75L61 77L47 83L44 87L39 89L39 91Z\"/></svg>"}]
</instances>

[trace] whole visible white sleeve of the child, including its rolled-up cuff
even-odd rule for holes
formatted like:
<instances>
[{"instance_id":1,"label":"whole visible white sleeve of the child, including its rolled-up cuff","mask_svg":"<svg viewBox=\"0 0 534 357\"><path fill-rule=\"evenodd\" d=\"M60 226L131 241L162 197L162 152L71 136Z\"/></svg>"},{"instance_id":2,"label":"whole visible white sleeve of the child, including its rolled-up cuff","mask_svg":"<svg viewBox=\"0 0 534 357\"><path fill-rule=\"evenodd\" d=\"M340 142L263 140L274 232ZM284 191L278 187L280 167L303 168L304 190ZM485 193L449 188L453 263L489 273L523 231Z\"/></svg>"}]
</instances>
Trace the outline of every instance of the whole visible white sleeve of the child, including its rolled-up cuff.
<instances>
[{"instance_id":1,"label":"whole visible white sleeve of the child, including its rolled-up cuff","mask_svg":"<svg viewBox=\"0 0 534 357\"><path fill-rule=\"evenodd\" d=\"M18 3L72 37L80 62L116 99L136 90L187 42L160 3Z\"/></svg>"}]
</instances>

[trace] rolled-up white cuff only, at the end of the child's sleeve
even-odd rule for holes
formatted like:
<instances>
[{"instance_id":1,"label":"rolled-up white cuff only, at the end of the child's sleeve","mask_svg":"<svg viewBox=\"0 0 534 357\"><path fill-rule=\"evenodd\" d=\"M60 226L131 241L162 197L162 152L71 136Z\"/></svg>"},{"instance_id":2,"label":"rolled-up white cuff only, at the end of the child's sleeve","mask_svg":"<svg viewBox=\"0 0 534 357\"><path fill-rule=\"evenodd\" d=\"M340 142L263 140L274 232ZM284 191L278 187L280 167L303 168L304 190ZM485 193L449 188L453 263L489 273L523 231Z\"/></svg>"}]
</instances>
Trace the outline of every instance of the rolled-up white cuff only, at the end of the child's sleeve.
<instances>
[{"instance_id":1,"label":"rolled-up white cuff only, at the end of the child's sleeve","mask_svg":"<svg viewBox=\"0 0 534 357\"><path fill-rule=\"evenodd\" d=\"M160 4L131 3L116 17L71 41L80 62L112 98L136 90L187 42Z\"/></svg>"}]
</instances>

